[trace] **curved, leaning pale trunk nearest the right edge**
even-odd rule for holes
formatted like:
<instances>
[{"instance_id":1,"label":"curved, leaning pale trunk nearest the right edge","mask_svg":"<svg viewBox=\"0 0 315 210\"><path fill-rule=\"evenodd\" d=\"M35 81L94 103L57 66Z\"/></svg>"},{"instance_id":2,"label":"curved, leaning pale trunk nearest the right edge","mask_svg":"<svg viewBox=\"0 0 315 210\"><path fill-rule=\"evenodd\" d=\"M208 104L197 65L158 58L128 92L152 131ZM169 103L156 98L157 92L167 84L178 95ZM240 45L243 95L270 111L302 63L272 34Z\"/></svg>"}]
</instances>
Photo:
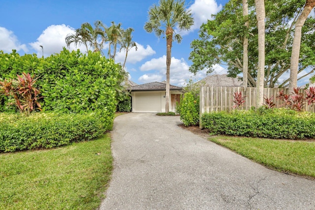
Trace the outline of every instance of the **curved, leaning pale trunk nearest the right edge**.
<instances>
[{"instance_id":1,"label":"curved, leaning pale trunk nearest the right edge","mask_svg":"<svg viewBox=\"0 0 315 210\"><path fill-rule=\"evenodd\" d=\"M302 36L302 27L309 16L310 12L315 6L315 0L306 0L303 11L298 17L295 30L294 38L292 45L291 53L291 63L290 63L290 80L289 80L289 90L293 91L297 87L297 74L299 66L299 57L300 57L300 48L301 48L301 36Z\"/></svg>"}]
</instances>

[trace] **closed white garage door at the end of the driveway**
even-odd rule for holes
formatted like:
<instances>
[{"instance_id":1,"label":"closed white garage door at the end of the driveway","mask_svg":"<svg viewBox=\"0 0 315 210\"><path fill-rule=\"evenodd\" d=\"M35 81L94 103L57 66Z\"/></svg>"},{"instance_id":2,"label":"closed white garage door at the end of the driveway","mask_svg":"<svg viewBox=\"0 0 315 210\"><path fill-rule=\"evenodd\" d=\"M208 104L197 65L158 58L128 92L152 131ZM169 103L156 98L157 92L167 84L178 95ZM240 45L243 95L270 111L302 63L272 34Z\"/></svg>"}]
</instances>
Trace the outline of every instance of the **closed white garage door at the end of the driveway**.
<instances>
[{"instance_id":1,"label":"closed white garage door at the end of the driveway","mask_svg":"<svg viewBox=\"0 0 315 210\"><path fill-rule=\"evenodd\" d=\"M134 92L132 112L161 112L160 92Z\"/></svg>"}]
</instances>

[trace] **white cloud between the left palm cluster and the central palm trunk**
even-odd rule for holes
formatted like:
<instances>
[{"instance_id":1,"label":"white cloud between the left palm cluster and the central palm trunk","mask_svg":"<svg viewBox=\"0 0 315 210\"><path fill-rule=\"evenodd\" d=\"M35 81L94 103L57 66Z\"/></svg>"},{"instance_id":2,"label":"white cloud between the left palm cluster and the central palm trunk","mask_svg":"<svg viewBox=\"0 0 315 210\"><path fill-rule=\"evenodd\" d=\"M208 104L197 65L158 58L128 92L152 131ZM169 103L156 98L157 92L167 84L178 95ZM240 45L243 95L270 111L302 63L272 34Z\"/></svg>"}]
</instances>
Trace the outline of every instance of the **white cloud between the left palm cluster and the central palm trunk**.
<instances>
[{"instance_id":1,"label":"white cloud between the left palm cluster and the central palm trunk","mask_svg":"<svg viewBox=\"0 0 315 210\"><path fill-rule=\"evenodd\" d=\"M156 54L156 51L154 51L150 47L150 45L147 45L146 48L137 42L136 42L136 45L137 45L138 50L136 51L136 48L133 47L133 48L131 48L130 51L128 51L126 63L136 63L136 62L139 62L139 61L145 59L148 56L152 56L152 55ZM122 50L121 52L118 52L116 54L115 60L117 62L124 63L125 56L126 56L126 50Z\"/></svg>"}]
</instances>

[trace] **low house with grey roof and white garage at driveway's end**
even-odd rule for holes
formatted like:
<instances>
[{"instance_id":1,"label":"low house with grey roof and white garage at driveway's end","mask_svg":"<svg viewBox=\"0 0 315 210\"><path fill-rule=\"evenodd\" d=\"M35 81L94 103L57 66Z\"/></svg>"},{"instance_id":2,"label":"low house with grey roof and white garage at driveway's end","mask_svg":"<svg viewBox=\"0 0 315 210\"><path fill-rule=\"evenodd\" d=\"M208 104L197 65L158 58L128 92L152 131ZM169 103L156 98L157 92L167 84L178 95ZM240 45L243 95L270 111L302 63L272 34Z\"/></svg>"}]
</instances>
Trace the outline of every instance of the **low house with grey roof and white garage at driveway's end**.
<instances>
[{"instance_id":1,"label":"low house with grey roof and white garage at driveway's end","mask_svg":"<svg viewBox=\"0 0 315 210\"><path fill-rule=\"evenodd\" d=\"M166 84L163 82L153 82L143 85L131 86L132 112L165 112L165 90ZM175 112L176 102L179 102L182 88L170 85L169 111Z\"/></svg>"}]
</instances>

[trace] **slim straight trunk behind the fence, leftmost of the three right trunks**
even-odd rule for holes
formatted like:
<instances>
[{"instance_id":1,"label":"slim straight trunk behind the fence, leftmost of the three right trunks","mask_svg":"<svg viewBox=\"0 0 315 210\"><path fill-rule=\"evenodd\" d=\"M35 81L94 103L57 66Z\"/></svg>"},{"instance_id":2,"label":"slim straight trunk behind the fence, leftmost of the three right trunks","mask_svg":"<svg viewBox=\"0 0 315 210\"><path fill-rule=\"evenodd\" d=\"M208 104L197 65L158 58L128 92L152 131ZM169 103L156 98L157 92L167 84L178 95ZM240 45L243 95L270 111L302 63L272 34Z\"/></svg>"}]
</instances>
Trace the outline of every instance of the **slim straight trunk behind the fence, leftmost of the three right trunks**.
<instances>
[{"instance_id":1,"label":"slim straight trunk behind the fence, leftmost of the three right trunks","mask_svg":"<svg viewBox=\"0 0 315 210\"><path fill-rule=\"evenodd\" d=\"M243 0L243 17L246 18L245 21L245 27L249 28L249 22L248 22L248 2L247 0ZM243 40L243 87L248 87L248 37L247 37L247 31L246 34L244 34L244 40Z\"/></svg>"}]
</instances>

